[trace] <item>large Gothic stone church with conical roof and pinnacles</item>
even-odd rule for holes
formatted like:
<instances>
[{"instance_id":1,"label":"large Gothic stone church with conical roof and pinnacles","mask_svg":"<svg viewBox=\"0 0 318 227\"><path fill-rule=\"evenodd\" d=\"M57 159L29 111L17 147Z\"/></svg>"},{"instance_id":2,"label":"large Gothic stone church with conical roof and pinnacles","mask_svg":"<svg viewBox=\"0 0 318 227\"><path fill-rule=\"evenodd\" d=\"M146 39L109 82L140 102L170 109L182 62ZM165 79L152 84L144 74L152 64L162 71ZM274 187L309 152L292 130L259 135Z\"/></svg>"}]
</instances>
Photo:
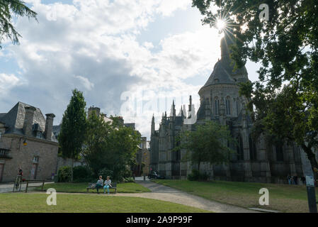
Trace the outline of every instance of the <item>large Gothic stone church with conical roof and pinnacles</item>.
<instances>
[{"instance_id":1,"label":"large Gothic stone church with conical roof and pinnacles","mask_svg":"<svg viewBox=\"0 0 318 227\"><path fill-rule=\"evenodd\" d=\"M288 175L302 177L302 158L299 147L287 143L269 144L264 138L254 141L251 137L253 121L246 109L248 100L239 95L239 83L249 81L246 67L234 70L229 57L229 45L232 38L225 34L221 41L221 59L215 64L208 81L200 89L200 108L193 124L186 123L185 108L176 115L173 103L170 116L163 114L159 130L155 129L154 116L151 127L151 168L159 171L168 179L185 179L195 165L186 162L183 157L186 150L173 150L176 135L181 131L195 130L195 126L206 120L217 121L229 126L238 145L232 150L227 165L203 163L200 171L210 175L210 179L222 179L244 182L286 183ZM188 113L193 113L194 105L190 96Z\"/></svg>"}]
</instances>

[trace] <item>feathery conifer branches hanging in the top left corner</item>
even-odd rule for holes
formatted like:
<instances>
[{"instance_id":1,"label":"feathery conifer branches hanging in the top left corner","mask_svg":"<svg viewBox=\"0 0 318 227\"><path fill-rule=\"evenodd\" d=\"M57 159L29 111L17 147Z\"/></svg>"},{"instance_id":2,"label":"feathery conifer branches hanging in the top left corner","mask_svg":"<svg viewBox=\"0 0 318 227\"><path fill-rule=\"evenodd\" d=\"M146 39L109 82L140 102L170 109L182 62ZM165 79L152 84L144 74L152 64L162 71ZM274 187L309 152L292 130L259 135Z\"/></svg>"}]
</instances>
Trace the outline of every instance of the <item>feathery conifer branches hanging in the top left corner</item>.
<instances>
[{"instance_id":1,"label":"feathery conifer branches hanging in the top left corner","mask_svg":"<svg viewBox=\"0 0 318 227\"><path fill-rule=\"evenodd\" d=\"M13 44L19 44L21 35L12 24L12 16L28 16L35 18L37 13L25 6L20 0L0 0L0 49L4 38L8 38Z\"/></svg>"}]
</instances>

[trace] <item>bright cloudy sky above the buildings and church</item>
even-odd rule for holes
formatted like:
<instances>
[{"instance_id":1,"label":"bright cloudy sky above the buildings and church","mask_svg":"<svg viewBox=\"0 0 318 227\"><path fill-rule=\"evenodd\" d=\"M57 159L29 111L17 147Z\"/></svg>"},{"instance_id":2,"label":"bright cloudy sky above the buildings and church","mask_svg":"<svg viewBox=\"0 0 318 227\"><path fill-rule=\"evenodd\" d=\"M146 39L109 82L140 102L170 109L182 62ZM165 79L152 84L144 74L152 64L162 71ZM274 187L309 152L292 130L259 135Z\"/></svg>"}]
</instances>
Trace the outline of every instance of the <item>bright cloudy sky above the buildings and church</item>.
<instances>
[{"instance_id":1,"label":"bright cloudy sky above the buildings and church","mask_svg":"<svg viewBox=\"0 0 318 227\"><path fill-rule=\"evenodd\" d=\"M162 113L178 114L210 77L220 58L216 28L203 26L191 0L25 0L38 22L18 18L20 45L0 50L0 113L18 101L62 120L72 89L86 105L125 123L149 140ZM247 62L249 79L258 65Z\"/></svg>"}]
</instances>

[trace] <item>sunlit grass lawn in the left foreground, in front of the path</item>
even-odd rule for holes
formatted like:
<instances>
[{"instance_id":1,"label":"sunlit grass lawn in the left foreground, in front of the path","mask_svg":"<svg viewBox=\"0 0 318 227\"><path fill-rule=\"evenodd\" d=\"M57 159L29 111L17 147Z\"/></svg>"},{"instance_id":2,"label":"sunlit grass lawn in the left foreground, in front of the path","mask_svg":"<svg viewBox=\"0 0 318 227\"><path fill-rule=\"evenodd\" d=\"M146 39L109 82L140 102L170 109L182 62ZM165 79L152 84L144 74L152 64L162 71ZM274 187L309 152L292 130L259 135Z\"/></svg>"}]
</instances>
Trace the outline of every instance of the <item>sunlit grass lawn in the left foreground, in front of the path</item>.
<instances>
[{"instance_id":1,"label":"sunlit grass lawn in the left foreground, in front of the path","mask_svg":"<svg viewBox=\"0 0 318 227\"><path fill-rule=\"evenodd\" d=\"M57 206L48 206L47 194L2 193L0 213L196 213L208 212L157 199L94 194L57 194ZM98 205L97 205L98 204Z\"/></svg>"}]
</instances>

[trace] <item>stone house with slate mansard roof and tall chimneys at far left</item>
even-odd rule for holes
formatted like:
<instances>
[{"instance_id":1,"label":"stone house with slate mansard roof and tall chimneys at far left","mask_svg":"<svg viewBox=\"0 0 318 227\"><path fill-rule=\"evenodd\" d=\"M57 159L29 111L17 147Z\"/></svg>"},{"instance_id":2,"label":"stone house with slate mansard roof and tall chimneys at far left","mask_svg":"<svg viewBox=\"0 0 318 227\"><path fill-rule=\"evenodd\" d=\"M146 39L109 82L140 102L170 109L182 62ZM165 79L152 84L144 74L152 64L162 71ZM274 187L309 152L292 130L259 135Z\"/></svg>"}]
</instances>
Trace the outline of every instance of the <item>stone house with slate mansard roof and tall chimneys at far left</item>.
<instances>
[{"instance_id":1,"label":"stone house with slate mansard roof and tall chimneys at far left","mask_svg":"<svg viewBox=\"0 0 318 227\"><path fill-rule=\"evenodd\" d=\"M0 182L13 182L19 168L25 179L48 179L56 173L54 118L22 102L0 114Z\"/></svg>"}]
</instances>

